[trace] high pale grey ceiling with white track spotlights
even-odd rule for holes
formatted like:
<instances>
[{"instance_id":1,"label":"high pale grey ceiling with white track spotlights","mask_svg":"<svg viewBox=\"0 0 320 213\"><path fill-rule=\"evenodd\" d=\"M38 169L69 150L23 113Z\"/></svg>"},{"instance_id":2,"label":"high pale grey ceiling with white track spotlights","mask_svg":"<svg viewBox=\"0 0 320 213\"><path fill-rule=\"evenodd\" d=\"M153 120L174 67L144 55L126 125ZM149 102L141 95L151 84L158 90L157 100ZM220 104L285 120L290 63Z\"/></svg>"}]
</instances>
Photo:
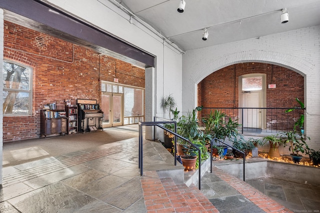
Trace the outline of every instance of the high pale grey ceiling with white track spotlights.
<instances>
[{"instance_id":1,"label":"high pale grey ceiling with white track spotlights","mask_svg":"<svg viewBox=\"0 0 320 213\"><path fill-rule=\"evenodd\" d=\"M320 0L116 0L182 50L320 25ZM281 9L289 14L280 23ZM203 28L208 30L202 40ZM305 32L307 33L307 32Z\"/></svg>"}]
</instances>

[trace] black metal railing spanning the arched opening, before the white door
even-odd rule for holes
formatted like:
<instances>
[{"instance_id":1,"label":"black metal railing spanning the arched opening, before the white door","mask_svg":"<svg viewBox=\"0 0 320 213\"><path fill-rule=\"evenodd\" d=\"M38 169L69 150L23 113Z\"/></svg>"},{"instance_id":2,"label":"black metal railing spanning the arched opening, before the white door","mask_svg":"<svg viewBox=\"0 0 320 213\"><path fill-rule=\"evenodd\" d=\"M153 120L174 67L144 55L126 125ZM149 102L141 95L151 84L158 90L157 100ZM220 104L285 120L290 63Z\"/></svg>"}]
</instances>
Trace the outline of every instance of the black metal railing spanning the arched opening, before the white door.
<instances>
[{"instance_id":1,"label":"black metal railing spanning the arched opening, before the white door","mask_svg":"<svg viewBox=\"0 0 320 213\"><path fill-rule=\"evenodd\" d=\"M242 134L244 132L279 133L292 130L295 122L304 113L304 109L301 108L285 112L287 109L289 108L203 108L200 111L199 120L206 117L210 111L219 110L225 113L225 121L229 118L238 121L240 124L238 131ZM299 130L299 127L296 129Z\"/></svg>"}]
</instances>

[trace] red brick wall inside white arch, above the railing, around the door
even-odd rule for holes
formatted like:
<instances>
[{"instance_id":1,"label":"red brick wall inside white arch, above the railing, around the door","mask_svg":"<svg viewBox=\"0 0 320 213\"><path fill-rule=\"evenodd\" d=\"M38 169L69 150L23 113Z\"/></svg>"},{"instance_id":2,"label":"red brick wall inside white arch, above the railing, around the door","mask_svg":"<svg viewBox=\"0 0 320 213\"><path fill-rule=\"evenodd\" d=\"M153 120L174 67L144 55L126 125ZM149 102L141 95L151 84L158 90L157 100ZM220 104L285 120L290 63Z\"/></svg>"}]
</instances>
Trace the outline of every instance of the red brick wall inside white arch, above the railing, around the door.
<instances>
[{"instance_id":1,"label":"red brick wall inside white arch, above the railing, around the door","mask_svg":"<svg viewBox=\"0 0 320 213\"><path fill-rule=\"evenodd\" d=\"M238 107L238 77L245 74L266 74L266 107L299 107L297 97L304 101L304 79L300 74L287 68L266 64L247 62L233 64L208 75L198 84L198 106L207 108ZM276 88L268 89L268 84ZM209 110L203 110L205 116ZM235 116L237 111L233 113ZM267 118L267 122L277 118ZM279 119L277 119L279 120Z\"/></svg>"}]
</instances>

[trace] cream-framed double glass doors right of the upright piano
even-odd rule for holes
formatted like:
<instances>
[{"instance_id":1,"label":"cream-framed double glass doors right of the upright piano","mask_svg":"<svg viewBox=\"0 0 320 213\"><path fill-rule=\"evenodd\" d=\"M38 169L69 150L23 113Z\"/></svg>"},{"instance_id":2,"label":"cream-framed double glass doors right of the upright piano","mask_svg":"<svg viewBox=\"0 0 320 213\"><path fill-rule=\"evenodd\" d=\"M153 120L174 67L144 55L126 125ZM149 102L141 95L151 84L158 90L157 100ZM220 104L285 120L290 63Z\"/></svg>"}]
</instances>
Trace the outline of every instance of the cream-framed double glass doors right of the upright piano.
<instances>
[{"instance_id":1,"label":"cream-framed double glass doors right of the upright piano","mask_svg":"<svg viewBox=\"0 0 320 213\"><path fill-rule=\"evenodd\" d=\"M102 92L101 110L103 128L123 125L123 94Z\"/></svg>"}]
</instances>

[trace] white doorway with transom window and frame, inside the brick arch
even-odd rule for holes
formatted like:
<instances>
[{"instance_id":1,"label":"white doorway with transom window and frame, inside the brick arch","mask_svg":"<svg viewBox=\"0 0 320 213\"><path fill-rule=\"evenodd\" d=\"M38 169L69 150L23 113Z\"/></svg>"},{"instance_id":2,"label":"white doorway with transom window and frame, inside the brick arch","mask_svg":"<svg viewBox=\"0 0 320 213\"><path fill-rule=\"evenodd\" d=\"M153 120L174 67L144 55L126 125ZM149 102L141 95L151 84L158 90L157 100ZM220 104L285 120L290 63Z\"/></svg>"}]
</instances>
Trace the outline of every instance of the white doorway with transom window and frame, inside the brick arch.
<instances>
[{"instance_id":1,"label":"white doorway with transom window and frame, inside the brick arch","mask_svg":"<svg viewBox=\"0 0 320 213\"><path fill-rule=\"evenodd\" d=\"M239 76L239 116L243 128L265 129L265 74ZM243 114L242 114L243 113Z\"/></svg>"}]
</instances>

